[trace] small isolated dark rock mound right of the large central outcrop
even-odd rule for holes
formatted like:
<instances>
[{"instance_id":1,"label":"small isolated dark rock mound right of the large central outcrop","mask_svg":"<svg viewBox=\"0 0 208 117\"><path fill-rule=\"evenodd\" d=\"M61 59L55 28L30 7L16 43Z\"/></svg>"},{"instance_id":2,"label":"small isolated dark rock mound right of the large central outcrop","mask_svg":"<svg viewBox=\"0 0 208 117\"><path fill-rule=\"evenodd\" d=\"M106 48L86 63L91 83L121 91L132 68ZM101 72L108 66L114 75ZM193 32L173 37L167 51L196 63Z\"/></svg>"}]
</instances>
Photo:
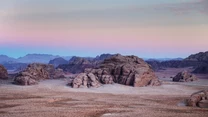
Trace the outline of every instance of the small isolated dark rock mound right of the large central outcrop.
<instances>
[{"instance_id":1,"label":"small isolated dark rock mound right of the large central outcrop","mask_svg":"<svg viewBox=\"0 0 208 117\"><path fill-rule=\"evenodd\" d=\"M190 82L195 81L197 79L198 78L195 75L187 71L180 72L175 77L173 77L174 82Z\"/></svg>"}]
</instances>

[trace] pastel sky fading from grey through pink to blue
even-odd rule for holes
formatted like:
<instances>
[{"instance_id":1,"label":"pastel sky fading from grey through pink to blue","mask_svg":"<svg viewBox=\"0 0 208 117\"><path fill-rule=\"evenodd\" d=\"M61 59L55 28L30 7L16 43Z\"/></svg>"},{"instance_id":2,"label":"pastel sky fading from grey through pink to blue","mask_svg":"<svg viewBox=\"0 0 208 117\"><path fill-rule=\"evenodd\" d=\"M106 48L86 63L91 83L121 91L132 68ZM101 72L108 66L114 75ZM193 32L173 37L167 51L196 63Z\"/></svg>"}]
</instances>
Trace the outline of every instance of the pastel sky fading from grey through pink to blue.
<instances>
[{"instance_id":1,"label":"pastel sky fading from grey through pink to blue","mask_svg":"<svg viewBox=\"0 0 208 117\"><path fill-rule=\"evenodd\" d=\"M0 54L145 58L208 50L208 0L1 0Z\"/></svg>"}]
</instances>

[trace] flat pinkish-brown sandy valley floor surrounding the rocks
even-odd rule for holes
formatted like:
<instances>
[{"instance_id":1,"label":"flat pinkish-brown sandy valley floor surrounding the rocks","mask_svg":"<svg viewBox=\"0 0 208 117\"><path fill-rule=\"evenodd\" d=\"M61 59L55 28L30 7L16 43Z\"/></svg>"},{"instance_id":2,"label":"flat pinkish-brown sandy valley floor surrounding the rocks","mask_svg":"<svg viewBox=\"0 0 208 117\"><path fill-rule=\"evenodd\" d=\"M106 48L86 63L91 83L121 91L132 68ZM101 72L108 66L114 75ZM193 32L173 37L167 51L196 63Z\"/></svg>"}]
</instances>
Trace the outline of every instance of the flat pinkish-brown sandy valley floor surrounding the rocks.
<instances>
[{"instance_id":1,"label":"flat pinkish-brown sandy valley floor surrounding the rocks","mask_svg":"<svg viewBox=\"0 0 208 117\"><path fill-rule=\"evenodd\" d=\"M207 79L173 83L163 76L165 71L157 74L162 86L140 88L113 84L72 89L66 86L68 79L34 86L0 81L0 117L208 117L208 109L183 103L193 92L207 89Z\"/></svg>"}]
</instances>

